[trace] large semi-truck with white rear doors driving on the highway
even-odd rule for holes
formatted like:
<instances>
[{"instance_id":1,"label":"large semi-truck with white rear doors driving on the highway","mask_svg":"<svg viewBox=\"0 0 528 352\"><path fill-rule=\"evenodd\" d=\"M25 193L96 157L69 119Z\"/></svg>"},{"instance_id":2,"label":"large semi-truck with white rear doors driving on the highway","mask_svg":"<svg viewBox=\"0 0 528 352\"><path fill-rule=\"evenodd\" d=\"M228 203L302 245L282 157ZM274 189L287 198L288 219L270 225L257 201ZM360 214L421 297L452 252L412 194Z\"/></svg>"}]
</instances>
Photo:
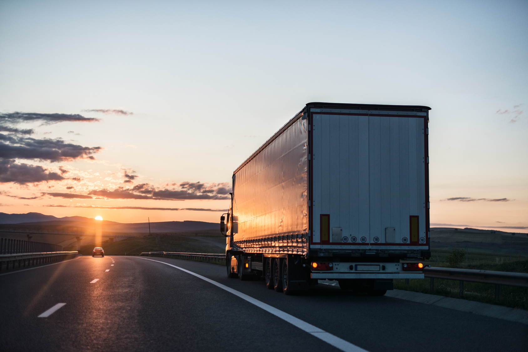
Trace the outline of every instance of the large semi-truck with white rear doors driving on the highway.
<instances>
[{"instance_id":1,"label":"large semi-truck with white rear doors driving on the highway","mask_svg":"<svg viewBox=\"0 0 528 352\"><path fill-rule=\"evenodd\" d=\"M430 109L307 103L233 172L228 277L285 294L336 280L373 296L423 278Z\"/></svg>"}]
</instances>

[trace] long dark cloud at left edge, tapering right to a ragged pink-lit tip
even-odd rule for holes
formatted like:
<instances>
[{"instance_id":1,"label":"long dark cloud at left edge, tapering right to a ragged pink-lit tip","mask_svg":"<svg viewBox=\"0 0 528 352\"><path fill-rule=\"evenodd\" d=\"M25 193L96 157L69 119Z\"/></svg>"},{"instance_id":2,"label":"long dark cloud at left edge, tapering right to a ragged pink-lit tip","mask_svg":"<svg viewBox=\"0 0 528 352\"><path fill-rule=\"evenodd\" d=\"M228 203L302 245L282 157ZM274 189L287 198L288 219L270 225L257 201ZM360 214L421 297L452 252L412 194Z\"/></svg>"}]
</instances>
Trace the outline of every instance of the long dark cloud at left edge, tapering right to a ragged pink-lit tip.
<instances>
[{"instance_id":1,"label":"long dark cloud at left edge, tapering right to a ragged pink-lit tip","mask_svg":"<svg viewBox=\"0 0 528 352\"><path fill-rule=\"evenodd\" d=\"M54 161L72 161L75 159L95 159L92 154L99 153L101 147L83 147L66 143L61 139L35 139L0 134L0 158L39 159Z\"/></svg>"}]
</instances>

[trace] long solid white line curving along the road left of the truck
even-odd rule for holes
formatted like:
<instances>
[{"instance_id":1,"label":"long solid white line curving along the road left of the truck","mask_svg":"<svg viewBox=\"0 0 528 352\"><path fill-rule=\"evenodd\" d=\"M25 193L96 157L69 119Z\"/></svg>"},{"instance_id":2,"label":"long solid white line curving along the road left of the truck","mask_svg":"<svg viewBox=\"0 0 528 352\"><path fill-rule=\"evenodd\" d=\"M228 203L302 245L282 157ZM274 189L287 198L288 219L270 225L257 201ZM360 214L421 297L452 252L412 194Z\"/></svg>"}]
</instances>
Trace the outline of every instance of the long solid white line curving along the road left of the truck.
<instances>
[{"instance_id":1,"label":"long solid white line curving along the road left of the truck","mask_svg":"<svg viewBox=\"0 0 528 352\"><path fill-rule=\"evenodd\" d=\"M213 280L208 279L206 277L203 277L200 274L196 274L196 273L194 273L192 271L188 271L186 269L183 269L183 268L180 268L180 267L176 267L176 265L172 265L172 264L169 264L169 263L161 262L159 260L142 258L142 257L139 257L139 256L134 256L133 258L152 260L153 262L166 264L166 265L169 265L169 266L171 266L173 268L185 271L186 273L194 275L195 277L200 278L202 280L205 280L205 281L207 281L209 283L212 283L214 286L220 287L221 289L223 289L225 291L228 291L228 292L234 294L235 296L238 296L238 297L242 298L243 300L246 300L246 301L252 303L253 305L255 305L255 306L259 307L259 308L262 308L263 310L271 313L272 315L275 315L275 316L279 317L282 320L286 320L287 322L289 322L290 324L298 327L299 329L308 332L308 334L310 334L312 336L315 336L318 339L321 339L321 340L325 341L327 344L332 345L332 346L334 346L334 347L336 347L336 348L338 348L338 349L340 349L342 351L345 351L345 352L368 352L366 349L363 349L363 348L358 347L358 346L356 346L354 344L351 344L350 342L345 341L342 338L339 338L339 337L337 337L335 335L330 334L329 332L326 332L326 331L324 331L322 329L319 329L318 327L313 326L312 324L308 324L306 321L300 320L300 319L294 317L293 315L290 315L290 314L288 314L286 312L283 312L282 310L279 310L279 309L277 309L275 307L272 307L272 306L268 305L267 303L264 303L264 302L261 302L261 301L259 301L257 299L254 299L253 297L248 296L245 293L242 293L242 292L237 291L237 290L233 290L232 288L227 287L227 286L225 286L225 285L223 285L223 284L221 284L219 282L216 282L216 281L213 281Z\"/></svg>"}]
</instances>

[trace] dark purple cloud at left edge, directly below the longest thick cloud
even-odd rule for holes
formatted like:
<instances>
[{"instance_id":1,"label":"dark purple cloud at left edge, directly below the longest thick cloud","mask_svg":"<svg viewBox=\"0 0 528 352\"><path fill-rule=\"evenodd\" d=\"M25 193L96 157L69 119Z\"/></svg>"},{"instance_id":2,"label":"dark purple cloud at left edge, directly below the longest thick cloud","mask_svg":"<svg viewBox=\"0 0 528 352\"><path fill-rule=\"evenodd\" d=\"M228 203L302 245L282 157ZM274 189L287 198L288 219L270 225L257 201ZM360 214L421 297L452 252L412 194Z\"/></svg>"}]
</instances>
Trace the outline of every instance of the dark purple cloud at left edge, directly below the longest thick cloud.
<instances>
[{"instance_id":1,"label":"dark purple cloud at left edge, directly below the longest thick cloud","mask_svg":"<svg viewBox=\"0 0 528 352\"><path fill-rule=\"evenodd\" d=\"M58 173L50 172L39 165L16 164L13 159L0 160L0 183L26 183L61 181L65 179Z\"/></svg>"}]
</instances>

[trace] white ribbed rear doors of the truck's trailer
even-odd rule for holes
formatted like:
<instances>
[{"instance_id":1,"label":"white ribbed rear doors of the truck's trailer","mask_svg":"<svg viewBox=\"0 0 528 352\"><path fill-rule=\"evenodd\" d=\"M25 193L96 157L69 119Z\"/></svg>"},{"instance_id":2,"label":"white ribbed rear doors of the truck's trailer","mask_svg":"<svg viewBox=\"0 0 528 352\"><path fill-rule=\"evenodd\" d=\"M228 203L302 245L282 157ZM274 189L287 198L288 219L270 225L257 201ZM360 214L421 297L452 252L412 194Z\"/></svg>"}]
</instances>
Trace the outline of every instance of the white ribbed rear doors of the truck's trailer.
<instances>
[{"instance_id":1,"label":"white ribbed rear doors of the truck's trailer","mask_svg":"<svg viewBox=\"0 0 528 352\"><path fill-rule=\"evenodd\" d=\"M426 112L314 110L314 247L428 246Z\"/></svg>"}]
</instances>

